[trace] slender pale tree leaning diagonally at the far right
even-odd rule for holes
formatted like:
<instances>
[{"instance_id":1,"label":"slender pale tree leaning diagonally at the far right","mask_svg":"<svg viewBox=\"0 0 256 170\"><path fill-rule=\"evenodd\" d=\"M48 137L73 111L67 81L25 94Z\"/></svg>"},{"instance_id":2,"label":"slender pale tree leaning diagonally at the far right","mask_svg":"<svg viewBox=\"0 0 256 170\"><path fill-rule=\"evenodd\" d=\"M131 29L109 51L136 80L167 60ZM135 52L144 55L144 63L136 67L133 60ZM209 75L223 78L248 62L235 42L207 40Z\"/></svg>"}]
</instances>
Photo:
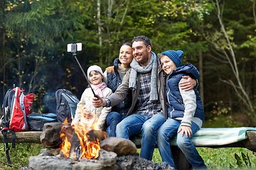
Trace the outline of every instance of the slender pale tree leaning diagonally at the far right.
<instances>
[{"instance_id":1,"label":"slender pale tree leaning diagonally at the far right","mask_svg":"<svg viewBox=\"0 0 256 170\"><path fill-rule=\"evenodd\" d=\"M215 47L215 54L217 54L223 61L227 62L230 65L230 69L233 72L233 77L236 82L232 79L232 77L230 77L231 79L222 79L222 81L225 82L225 84L229 84L230 86L232 86L233 89L235 90L235 94L237 94L242 103L244 103L244 105L247 106L248 110L251 113L254 113L252 101L250 99L249 94L245 90L245 83L243 84L240 78L241 74L238 66L239 63L235 55L234 47L237 52L239 52L239 48L234 40L234 31L232 28L228 28L227 30L227 28L225 27L225 22L223 21L224 5L221 8L220 1L218 0L215 0L214 5L218 23L220 24L220 32L216 31L214 38L213 36L211 36L207 39L208 42L210 42L213 45L213 47Z\"/></svg>"}]
</instances>

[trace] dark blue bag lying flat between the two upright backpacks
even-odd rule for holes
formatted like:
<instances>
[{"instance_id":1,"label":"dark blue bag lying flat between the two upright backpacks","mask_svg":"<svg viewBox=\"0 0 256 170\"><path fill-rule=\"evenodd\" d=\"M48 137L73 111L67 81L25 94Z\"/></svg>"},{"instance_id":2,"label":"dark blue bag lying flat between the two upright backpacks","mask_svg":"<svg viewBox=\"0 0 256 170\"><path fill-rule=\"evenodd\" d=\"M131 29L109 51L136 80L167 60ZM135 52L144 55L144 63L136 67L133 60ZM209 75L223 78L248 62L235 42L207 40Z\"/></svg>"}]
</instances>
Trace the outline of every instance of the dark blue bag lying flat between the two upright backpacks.
<instances>
[{"instance_id":1,"label":"dark blue bag lying flat between the two upright backpacks","mask_svg":"<svg viewBox=\"0 0 256 170\"><path fill-rule=\"evenodd\" d=\"M27 115L28 128L32 131L42 131L45 123L57 122L56 113L31 113Z\"/></svg>"}]
</instances>

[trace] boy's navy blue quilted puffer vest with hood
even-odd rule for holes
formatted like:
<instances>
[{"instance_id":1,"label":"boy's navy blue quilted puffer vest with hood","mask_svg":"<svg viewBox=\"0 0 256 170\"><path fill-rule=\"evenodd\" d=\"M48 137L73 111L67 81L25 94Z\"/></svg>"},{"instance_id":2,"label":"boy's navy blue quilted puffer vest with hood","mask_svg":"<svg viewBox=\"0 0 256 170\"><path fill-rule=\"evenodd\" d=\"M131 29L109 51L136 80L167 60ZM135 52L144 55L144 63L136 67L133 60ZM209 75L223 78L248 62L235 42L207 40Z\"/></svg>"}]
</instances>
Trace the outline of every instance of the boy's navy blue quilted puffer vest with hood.
<instances>
[{"instance_id":1,"label":"boy's navy blue quilted puffer vest with hood","mask_svg":"<svg viewBox=\"0 0 256 170\"><path fill-rule=\"evenodd\" d=\"M168 99L168 115L171 118L183 118L183 113L185 111L183 99L181 93L178 89L178 83L181 81L182 76L189 75L193 79L199 78L199 72L192 64L184 64L181 67L174 69L174 71L169 76L167 81L168 91L167 91L167 99ZM200 118L201 120L205 120L205 115L203 111L203 104L201 101L201 97L196 88L193 89L196 94L196 113L194 117ZM173 111L174 108L174 111Z\"/></svg>"}]
</instances>

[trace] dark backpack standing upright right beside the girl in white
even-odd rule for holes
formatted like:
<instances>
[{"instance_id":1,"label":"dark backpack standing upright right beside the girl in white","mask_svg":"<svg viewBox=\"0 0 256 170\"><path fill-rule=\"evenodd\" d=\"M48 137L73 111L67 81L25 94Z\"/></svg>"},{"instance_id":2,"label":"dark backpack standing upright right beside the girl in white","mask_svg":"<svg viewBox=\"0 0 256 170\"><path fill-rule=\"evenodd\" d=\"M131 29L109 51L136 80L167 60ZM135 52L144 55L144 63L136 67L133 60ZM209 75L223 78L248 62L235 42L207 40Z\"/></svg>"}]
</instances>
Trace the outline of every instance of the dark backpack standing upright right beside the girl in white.
<instances>
[{"instance_id":1,"label":"dark backpack standing upright right beside the girl in white","mask_svg":"<svg viewBox=\"0 0 256 170\"><path fill-rule=\"evenodd\" d=\"M58 89L58 91L55 92L55 98L58 122L63 123L65 118L67 118L68 123L71 123L75 118L75 110L79 99L71 91L65 89Z\"/></svg>"}]
</instances>

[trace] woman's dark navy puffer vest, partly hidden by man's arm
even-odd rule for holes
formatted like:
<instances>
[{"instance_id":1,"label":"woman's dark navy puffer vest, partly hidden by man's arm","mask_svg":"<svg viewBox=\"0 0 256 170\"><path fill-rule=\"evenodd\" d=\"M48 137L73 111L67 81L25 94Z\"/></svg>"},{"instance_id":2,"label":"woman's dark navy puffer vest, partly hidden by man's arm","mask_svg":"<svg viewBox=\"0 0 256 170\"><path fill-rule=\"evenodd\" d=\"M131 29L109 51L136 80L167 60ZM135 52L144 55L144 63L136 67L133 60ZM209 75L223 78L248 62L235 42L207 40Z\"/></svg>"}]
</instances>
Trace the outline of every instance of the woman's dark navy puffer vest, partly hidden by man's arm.
<instances>
[{"instance_id":1,"label":"woman's dark navy puffer vest, partly hidden by man's arm","mask_svg":"<svg viewBox=\"0 0 256 170\"><path fill-rule=\"evenodd\" d=\"M119 59L114 60L114 72L107 72L107 87L112 89L113 93L117 90L117 87L122 84L122 80L119 76L119 72L117 71L117 67L119 64ZM128 94L127 97L119 103L117 106L113 106L111 111L115 111L120 113L121 115L125 115L128 113L129 108L132 104L132 95Z\"/></svg>"}]
</instances>

